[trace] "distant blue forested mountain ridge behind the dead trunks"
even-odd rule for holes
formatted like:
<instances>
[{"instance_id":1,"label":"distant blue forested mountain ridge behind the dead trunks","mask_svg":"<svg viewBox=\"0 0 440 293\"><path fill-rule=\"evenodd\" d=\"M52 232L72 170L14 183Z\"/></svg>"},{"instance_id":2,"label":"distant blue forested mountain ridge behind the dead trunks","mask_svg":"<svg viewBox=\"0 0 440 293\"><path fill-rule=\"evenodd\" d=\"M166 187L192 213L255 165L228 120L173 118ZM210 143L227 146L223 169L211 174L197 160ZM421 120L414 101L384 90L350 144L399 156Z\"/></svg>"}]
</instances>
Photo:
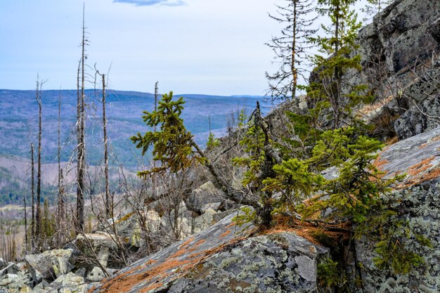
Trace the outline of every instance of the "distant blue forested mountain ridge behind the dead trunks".
<instances>
[{"instance_id":1,"label":"distant blue forested mountain ridge behind the dead trunks","mask_svg":"<svg viewBox=\"0 0 440 293\"><path fill-rule=\"evenodd\" d=\"M56 162L58 96L61 96L61 141L62 160L67 161L75 147L76 90L45 90L43 96L43 161ZM201 94L175 94L186 100L183 119L186 127L195 135L201 145L211 129L216 136L226 134L227 119L238 109L252 112L259 100L264 110L270 110L269 103L262 96L209 96ZM101 91L86 90L87 107L87 155L91 164L98 164L102 157L102 104ZM129 137L137 132L147 131L142 121L143 110L154 108L154 95L136 91L107 91L108 133L112 154L119 164L135 167L136 154L140 154ZM37 143L38 107L35 91L0 89L0 155L29 157L30 143Z\"/></svg>"}]
</instances>

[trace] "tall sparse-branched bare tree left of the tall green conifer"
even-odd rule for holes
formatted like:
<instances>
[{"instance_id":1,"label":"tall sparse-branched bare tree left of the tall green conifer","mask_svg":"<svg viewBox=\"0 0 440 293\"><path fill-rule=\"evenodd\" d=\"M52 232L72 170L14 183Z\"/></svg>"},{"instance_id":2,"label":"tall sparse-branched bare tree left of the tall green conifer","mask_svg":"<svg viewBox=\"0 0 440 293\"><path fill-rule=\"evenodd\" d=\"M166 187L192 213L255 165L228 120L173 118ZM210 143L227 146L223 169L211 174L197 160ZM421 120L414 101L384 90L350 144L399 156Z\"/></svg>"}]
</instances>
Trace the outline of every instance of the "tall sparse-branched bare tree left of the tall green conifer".
<instances>
[{"instance_id":1,"label":"tall sparse-branched bare tree left of the tall green conifer","mask_svg":"<svg viewBox=\"0 0 440 293\"><path fill-rule=\"evenodd\" d=\"M277 72L266 72L272 100L296 97L299 76L305 71L306 51L311 47L308 39L316 32L311 28L316 20L311 16L313 1L285 0L284 6L276 7L276 15L269 14L269 17L285 27L266 44L275 53L274 62L280 65Z\"/></svg>"}]
</instances>

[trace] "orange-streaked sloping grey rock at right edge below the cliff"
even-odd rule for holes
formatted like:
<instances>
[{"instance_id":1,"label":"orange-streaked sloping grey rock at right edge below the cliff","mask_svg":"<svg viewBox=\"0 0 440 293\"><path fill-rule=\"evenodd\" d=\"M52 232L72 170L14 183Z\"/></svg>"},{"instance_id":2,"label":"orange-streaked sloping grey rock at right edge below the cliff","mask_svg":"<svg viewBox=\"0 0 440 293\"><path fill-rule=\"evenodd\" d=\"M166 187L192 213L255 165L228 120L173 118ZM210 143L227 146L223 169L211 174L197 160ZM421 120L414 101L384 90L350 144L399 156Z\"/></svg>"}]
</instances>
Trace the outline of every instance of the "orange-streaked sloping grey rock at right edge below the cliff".
<instances>
[{"instance_id":1,"label":"orange-streaked sloping grey rock at right edge below the cliff","mask_svg":"<svg viewBox=\"0 0 440 293\"><path fill-rule=\"evenodd\" d=\"M425 264L409 275L395 275L375 268L375 243L361 239L356 247L364 268L364 292L440 292L440 129L391 145L376 164L385 177L406 174L389 200L403 211L408 228L427 237L432 247L413 238L406 241L406 248L424 256Z\"/></svg>"}]
</instances>

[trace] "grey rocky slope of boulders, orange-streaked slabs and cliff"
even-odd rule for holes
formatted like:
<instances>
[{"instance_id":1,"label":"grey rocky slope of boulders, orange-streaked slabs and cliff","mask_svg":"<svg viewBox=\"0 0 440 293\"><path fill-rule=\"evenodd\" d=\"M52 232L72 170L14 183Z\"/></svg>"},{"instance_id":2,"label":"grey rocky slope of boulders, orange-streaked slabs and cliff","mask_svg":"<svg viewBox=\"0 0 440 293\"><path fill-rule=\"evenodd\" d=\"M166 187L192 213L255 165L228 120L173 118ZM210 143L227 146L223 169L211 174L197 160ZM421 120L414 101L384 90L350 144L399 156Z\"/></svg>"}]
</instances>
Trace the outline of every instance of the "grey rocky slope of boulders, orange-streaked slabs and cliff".
<instances>
[{"instance_id":1,"label":"grey rocky slope of boulders, orange-streaked slabs and cliff","mask_svg":"<svg viewBox=\"0 0 440 293\"><path fill-rule=\"evenodd\" d=\"M361 30L359 44L364 70L349 72L349 78L370 84L376 94L376 104L363 114L377 131L392 128L380 135L395 131L402 140L384 149L375 164L385 177L406 174L389 200L408 229L427 237L430 245L420 245L416 237L405 242L406 249L425 256L410 275L376 268L375 242L365 238L356 240L356 256L347 266L354 267L356 259L363 293L440 292L440 129L435 128L440 121L440 2L394 1ZM302 107L283 105L295 111ZM274 134L285 124L282 110L268 119ZM231 167L231 158L240 154L242 131L207 152L237 187L242 174ZM156 188L145 208L141 202L141 211L129 209L115 219L111 233L80 236L66 249L9 264L0 271L0 292L328 291L320 287L317 266L329 249L313 240L314 227L281 225L257 234L249 223L235 225L236 206L224 200L203 167L179 180L185 183L182 194L173 195L171 183ZM133 249L134 259L151 254L122 268L116 236Z\"/></svg>"}]
</instances>

